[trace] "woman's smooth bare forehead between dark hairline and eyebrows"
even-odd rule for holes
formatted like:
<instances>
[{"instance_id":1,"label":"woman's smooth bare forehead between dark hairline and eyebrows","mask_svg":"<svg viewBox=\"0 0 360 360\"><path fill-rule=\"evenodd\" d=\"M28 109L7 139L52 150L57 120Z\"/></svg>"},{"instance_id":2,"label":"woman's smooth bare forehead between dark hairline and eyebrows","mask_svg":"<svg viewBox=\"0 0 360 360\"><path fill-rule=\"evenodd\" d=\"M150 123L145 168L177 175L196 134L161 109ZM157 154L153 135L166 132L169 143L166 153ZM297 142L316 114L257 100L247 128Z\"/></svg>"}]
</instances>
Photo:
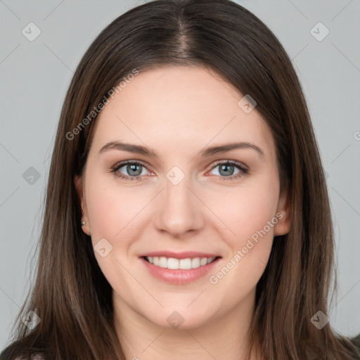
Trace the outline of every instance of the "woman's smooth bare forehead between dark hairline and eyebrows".
<instances>
[{"instance_id":1,"label":"woman's smooth bare forehead between dark hairline and eyebrows","mask_svg":"<svg viewBox=\"0 0 360 360\"><path fill-rule=\"evenodd\" d=\"M266 122L256 108L245 113L243 94L200 67L174 66L141 72L110 98L96 120L91 148L126 141L190 152L207 144L250 141L274 155Z\"/></svg>"}]
</instances>

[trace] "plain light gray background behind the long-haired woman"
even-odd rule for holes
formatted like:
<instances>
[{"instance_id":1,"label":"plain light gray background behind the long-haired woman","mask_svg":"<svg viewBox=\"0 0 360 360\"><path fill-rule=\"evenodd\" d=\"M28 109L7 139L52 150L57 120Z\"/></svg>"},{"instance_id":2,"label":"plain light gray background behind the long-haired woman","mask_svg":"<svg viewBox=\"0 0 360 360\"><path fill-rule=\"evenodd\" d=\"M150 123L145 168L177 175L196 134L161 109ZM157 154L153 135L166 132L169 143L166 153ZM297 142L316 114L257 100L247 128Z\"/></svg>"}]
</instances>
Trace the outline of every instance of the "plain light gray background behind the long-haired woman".
<instances>
[{"instance_id":1,"label":"plain light gray background behind the long-haired woman","mask_svg":"<svg viewBox=\"0 0 360 360\"><path fill-rule=\"evenodd\" d=\"M118 15L144 0L0 0L0 347L34 274L41 202L60 109L84 51ZM293 60L309 105L335 219L339 293L330 322L360 332L360 3L244 0ZM41 34L22 33L35 23ZM317 23L330 31L318 41ZM319 30L318 30L319 29ZM29 30L27 30L29 32ZM325 28L312 33L323 37ZM40 177L23 178L29 167ZM25 176L26 177L26 176Z\"/></svg>"}]
</instances>

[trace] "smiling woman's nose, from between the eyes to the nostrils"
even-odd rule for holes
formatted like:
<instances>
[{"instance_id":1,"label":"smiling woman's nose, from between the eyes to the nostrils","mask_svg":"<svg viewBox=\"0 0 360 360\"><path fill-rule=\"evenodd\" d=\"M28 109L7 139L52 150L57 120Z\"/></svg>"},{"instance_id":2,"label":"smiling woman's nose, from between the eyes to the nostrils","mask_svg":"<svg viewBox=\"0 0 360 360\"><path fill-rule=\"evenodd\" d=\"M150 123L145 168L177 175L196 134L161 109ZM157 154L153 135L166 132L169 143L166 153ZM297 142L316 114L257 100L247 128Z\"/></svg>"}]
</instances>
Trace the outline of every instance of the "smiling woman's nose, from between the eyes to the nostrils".
<instances>
[{"instance_id":1,"label":"smiling woman's nose, from between the eyes to the nostrils","mask_svg":"<svg viewBox=\"0 0 360 360\"><path fill-rule=\"evenodd\" d=\"M160 193L155 226L159 231L177 238L199 231L205 223L204 205L195 195L196 191L189 180L185 177L175 185L165 179L165 189Z\"/></svg>"}]
</instances>

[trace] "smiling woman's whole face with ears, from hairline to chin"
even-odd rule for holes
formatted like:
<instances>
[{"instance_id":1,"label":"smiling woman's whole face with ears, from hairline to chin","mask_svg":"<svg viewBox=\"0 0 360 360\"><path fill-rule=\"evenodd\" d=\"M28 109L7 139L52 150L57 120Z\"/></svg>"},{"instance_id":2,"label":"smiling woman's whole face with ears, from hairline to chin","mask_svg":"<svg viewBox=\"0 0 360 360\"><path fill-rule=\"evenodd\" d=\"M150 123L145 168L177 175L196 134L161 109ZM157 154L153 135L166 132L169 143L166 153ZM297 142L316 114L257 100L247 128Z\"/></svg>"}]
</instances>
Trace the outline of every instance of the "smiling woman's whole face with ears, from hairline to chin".
<instances>
[{"instance_id":1,"label":"smiling woman's whole face with ears, from hairline to chin","mask_svg":"<svg viewBox=\"0 0 360 360\"><path fill-rule=\"evenodd\" d=\"M158 68L101 111L75 183L119 311L195 328L252 307L290 221L271 131L243 95L204 68Z\"/></svg>"}]
</instances>

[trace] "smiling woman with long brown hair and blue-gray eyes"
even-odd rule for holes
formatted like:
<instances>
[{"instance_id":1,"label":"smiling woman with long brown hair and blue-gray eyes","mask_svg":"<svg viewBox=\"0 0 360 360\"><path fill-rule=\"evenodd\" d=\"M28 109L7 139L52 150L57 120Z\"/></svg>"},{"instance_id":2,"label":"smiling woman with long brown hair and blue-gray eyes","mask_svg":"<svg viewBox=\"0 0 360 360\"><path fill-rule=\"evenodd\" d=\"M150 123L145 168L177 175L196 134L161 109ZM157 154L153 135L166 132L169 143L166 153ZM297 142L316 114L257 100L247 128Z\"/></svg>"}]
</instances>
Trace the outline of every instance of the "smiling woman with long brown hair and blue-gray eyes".
<instances>
[{"instance_id":1,"label":"smiling woman with long brown hair and blue-gray eyes","mask_svg":"<svg viewBox=\"0 0 360 360\"><path fill-rule=\"evenodd\" d=\"M283 47L231 1L154 1L72 79L37 281L1 359L358 359L328 323L332 270Z\"/></svg>"}]
</instances>

